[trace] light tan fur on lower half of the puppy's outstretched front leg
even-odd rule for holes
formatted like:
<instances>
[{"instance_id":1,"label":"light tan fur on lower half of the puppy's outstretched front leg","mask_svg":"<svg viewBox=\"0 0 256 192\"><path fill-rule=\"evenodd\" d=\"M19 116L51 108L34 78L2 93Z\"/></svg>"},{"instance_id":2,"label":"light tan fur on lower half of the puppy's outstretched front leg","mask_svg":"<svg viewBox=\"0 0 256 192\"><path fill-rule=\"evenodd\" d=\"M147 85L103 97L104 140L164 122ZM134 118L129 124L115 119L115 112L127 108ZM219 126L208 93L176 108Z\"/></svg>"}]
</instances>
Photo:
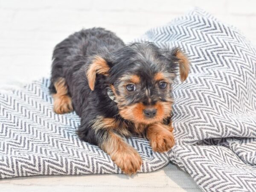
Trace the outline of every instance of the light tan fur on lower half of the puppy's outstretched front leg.
<instances>
[{"instance_id":1,"label":"light tan fur on lower half of the puppy's outstretched front leg","mask_svg":"<svg viewBox=\"0 0 256 192\"><path fill-rule=\"evenodd\" d=\"M140 154L117 134L110 131L108 139L100 147L125 174L135 174L140 170L142 164Z\"/></svg>"}]
</instances>

